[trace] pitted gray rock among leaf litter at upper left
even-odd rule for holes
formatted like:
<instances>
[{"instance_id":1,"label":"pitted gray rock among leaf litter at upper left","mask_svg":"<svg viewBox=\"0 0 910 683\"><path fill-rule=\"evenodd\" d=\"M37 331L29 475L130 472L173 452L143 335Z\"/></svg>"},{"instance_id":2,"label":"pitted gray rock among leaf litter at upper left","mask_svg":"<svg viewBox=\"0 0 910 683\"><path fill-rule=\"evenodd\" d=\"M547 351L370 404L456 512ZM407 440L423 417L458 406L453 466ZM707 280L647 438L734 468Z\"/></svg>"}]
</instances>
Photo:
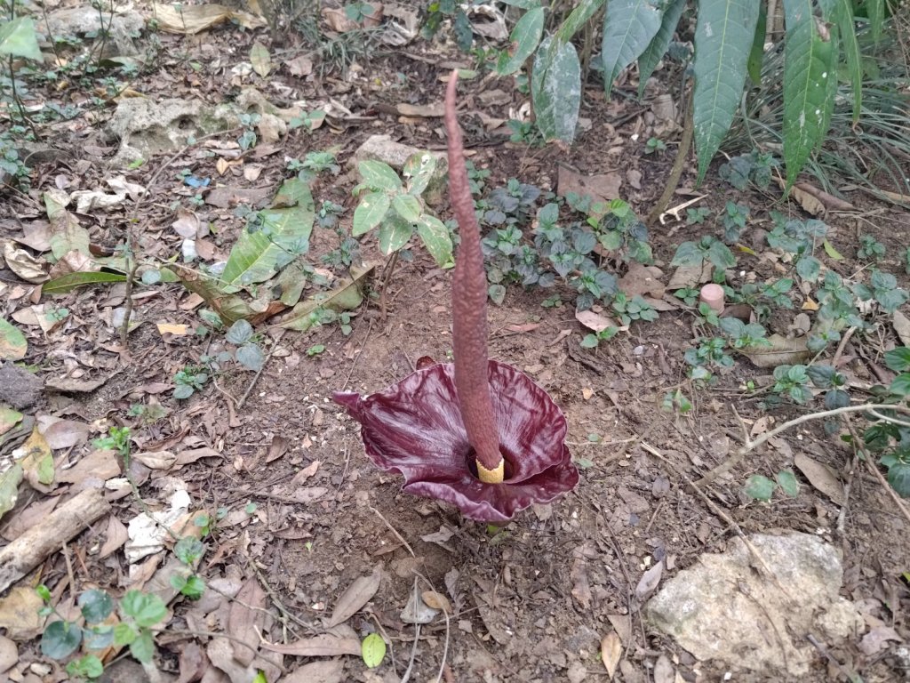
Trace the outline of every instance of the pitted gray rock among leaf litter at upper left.
<instances>
[{"instance_id":1,"label":"pitted gray rock among leaf litter at upper left","mask_svg":"<svg viewBox=\"0 0 910 683\"><path fill-rule=\"evenodd\" d=\"M127 97L117 105L106 132L120 143L113 163L127 164L136 158L176 151L189 138L237 126L238 115L227 105L207 107L198 100L172 98L154 102L145 97Z\"/></svg>"}]
</instances>

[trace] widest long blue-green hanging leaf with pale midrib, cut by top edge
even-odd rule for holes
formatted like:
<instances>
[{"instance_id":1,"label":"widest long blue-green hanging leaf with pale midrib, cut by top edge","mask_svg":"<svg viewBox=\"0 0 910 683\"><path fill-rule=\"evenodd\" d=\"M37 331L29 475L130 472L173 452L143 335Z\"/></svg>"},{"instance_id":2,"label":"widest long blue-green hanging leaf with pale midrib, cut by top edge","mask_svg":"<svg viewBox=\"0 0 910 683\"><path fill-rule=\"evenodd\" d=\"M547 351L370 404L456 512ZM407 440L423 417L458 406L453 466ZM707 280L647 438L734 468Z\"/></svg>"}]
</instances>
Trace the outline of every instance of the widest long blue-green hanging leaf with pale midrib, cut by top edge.
<instances>
[{"instance_id":1,"label":"widest long blue-green hanging leaf with pale midrib, cut by top edge","mask_svg":"<svg viewBox=\"0 0 910 683\"><path fill-rule=\"evenodd\" d=\"M754 0L702 0L695 26L693 125L701 182L733 123L758 21Z\"/></svg>"}]
</instances>

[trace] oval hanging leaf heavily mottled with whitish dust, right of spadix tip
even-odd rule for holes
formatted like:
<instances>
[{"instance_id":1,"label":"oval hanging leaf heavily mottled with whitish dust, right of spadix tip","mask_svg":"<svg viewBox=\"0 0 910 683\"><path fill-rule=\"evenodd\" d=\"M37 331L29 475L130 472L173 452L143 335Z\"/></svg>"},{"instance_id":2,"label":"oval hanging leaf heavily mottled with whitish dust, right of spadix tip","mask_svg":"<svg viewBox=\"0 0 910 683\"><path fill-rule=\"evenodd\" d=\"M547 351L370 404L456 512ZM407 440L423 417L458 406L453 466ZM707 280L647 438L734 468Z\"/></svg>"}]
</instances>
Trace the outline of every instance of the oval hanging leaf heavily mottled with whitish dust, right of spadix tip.
<instances>
[{"instance_id":1,"label":"oval hanging leaf heavily mottled with whitish dust, right of spadix tip","mask_svg":"<svg viewBox=\"0 0 910 683\"><path fill-rule=\"evenodd\" d=\"M534 57L531 97L543 138L571 142L581 107L581 63L575 46L547 37Z\"/></svg>"}]
</instances>

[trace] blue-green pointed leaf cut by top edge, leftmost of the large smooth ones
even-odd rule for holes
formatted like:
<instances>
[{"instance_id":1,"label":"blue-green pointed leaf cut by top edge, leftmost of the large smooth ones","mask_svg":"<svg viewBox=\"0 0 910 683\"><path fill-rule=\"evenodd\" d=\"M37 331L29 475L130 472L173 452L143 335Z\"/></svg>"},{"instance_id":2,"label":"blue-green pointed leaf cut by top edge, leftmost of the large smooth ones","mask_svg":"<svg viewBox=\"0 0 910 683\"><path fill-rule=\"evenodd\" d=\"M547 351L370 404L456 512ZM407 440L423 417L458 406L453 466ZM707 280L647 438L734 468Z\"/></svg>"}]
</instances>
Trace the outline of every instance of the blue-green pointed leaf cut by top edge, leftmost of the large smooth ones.
<instances>
[{"instance_id":1,"label":"blue-green pointed leaf cut by top edge, leftmost of the large smooth ones","mask_svg":"<svg viewBox=\"0 0 910 683\"><path fill-rule=\"evenodd\" d=\"M622 69L642 56L661 28L658 0L610 0L603 16L603 87L607 95Z\"/></svg>"}]
</instances>

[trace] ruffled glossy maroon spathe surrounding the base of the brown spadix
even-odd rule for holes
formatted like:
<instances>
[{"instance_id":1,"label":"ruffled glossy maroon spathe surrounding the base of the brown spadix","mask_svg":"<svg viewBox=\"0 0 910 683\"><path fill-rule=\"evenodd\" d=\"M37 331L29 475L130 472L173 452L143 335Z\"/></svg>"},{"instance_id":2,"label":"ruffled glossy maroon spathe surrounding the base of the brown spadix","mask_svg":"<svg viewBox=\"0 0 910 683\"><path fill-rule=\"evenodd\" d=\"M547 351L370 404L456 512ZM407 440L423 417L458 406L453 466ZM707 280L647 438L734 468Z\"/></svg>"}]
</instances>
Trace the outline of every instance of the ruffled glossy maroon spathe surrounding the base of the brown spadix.
<instances>
[{"instance_id":1,"label":"ruffled glossy maroon spathe surrounding the base of the brown spadix","mask_svg":"<svg viewBox=\"0 0 910 683\"><path fill-rule=\"evenodd\" d=\"M450 363L414 372L383 392L337 392L361 424L370 460L404 475L411 494L456 505L480 522L508 522L532 503L549 503L578 484L564 443L565 417L547 392L511 365L490 361L489 381L506 481L482 484L461 421Z\"/></svg>"}]
</instances>

